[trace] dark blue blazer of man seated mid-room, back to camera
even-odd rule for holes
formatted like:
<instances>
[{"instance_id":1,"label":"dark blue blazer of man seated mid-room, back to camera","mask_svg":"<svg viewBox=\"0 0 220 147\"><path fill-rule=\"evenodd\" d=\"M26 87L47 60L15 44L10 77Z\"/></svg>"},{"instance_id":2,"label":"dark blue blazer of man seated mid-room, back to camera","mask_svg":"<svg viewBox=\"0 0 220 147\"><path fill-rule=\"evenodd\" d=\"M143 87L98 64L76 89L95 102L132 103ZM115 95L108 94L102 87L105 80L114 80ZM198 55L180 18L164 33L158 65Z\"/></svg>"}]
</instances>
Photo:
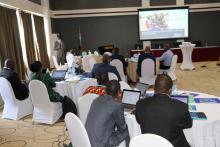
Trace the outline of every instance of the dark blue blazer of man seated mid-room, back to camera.
<instances>
[{"instance_id":1,"label":"dark blue blazer of man seated mid-room, back to camera","mask_svg":"<svg viewBox=\"0 0 220 147\"><path fill-rule=\"evenodd\" d=\"M91 77L92 78L96 78L97 75L99 73L103 72L103 71L105 71L105 72L112 72L112 73L116 74L117 77L118 77L118 81L121 81L121 77L120 77L116 67L112 66L110 64L106 64L106 63L97 63L97 64L95 64L93 66L93 68L92 68L91 73L90 73Z\"/></svg>"}]
</instances>

